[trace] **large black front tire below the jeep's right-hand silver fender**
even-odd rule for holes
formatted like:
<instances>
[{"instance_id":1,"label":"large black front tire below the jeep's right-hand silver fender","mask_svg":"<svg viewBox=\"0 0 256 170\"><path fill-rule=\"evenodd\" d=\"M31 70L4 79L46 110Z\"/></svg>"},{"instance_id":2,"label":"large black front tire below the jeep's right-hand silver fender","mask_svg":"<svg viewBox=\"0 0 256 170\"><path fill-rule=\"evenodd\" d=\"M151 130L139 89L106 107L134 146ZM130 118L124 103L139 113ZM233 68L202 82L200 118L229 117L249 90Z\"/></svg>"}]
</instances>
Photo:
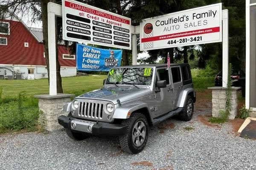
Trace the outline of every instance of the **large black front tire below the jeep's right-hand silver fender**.
<instances>
[{"instance_id":1,"label":"large black front tire below the jeep's right-hand silver fender","mask_svg":"<svg viewBox=\"0 0 256 170\"><path fill-rule=\"evenodd\" d=\"M143 123L141 123L141 122L143 122ZM138 132L134 129L135 125L137 123L138 123L137 129L139 129L140 132ZM141 113L132 113L129 119L124 119L122 121L122 125L128 125L126 135L119 136L119 143L121 145L122 150L124 150L128 153L131 153L131 154L140 153L144 149L144 147L148 141L148 121L147 121L146 117ZM142 127L139 128L140 126L142 126ZM145 132L143 133L144 130L145 130ZM139 137L136 137L135 140L133 141L133 136L134 136L133 134L135 134L134 132L137 132L136 134L138 136L139 136L139 134L141 134L141 135L144 134L145 138L143 139L142 136L139 136ZM140 144L140 146L136 146L135 141L140 141L140 140L142 141L142 139L143 139L143 142L138 143L138 144Z\"/></svg>"}]
</instances>

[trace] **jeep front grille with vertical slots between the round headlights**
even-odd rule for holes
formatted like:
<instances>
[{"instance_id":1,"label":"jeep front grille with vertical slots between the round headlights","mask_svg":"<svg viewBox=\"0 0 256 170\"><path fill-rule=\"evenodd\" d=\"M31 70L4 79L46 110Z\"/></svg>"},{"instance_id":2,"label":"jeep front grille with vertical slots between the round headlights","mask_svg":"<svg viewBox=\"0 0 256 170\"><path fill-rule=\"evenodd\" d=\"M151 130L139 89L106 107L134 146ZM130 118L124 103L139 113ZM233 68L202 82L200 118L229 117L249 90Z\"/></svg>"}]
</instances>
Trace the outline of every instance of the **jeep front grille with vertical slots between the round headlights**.
<instances>
[{"instance_id":1,"label":"jeep front grille with vertical slots between the round headlights","mask_svg":"<svg viewBox=\"0 0 256 170\"><path fill-rule=\"evenodd\" d=\"M102 119L103 107L100 103L80 102L78 116Z\"/></svg>"}]
</instances>

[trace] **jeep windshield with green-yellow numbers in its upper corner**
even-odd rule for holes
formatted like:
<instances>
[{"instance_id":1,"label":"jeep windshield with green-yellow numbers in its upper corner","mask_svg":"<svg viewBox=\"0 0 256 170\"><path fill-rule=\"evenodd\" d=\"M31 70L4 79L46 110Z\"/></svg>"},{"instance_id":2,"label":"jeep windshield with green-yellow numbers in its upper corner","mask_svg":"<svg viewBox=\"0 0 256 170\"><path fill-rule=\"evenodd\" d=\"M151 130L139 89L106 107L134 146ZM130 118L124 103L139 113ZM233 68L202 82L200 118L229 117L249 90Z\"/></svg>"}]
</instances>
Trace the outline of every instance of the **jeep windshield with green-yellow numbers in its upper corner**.
<instances>
[{"instance_id":1,"label":"jeep windshield with green-yellow numbers in its upper corner","mask_svg":"<svg viewBox=\"0 0 256 170\"><path fill-rule=\"evenodd\" d=\"M106 85L151 85L153 68L113 68Z\"/></svg>"}]
</instances>

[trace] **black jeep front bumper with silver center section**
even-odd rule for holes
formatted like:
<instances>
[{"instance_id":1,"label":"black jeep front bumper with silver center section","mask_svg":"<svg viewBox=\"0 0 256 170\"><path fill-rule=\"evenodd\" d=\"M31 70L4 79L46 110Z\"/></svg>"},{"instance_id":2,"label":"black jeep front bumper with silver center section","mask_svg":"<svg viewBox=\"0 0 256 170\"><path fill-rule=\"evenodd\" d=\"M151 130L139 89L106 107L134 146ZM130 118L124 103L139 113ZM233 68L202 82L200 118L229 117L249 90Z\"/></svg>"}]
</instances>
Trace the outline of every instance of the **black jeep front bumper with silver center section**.
<instances>
[{"instance_id":1,"label":"black jeep front bumper with silver center section","mask_svg":"<svg viewBox=\"0 0 256 170\"><path fill-rule=\"evenodd\" d=\"M74 117L59 116L58 123L64 128L90 133L96 136L122 136L127 132L127 125L111 124L106 122L92 122Z\"/></svg>"}]
</instances>

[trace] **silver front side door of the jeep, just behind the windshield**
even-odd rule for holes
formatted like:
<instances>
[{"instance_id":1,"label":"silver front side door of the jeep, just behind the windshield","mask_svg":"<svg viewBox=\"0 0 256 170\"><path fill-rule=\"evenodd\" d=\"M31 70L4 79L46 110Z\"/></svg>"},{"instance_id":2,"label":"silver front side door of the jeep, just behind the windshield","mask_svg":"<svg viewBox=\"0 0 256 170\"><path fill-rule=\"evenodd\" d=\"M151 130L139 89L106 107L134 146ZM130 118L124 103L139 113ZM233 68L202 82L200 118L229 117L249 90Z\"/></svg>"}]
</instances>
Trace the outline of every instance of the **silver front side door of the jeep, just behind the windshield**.
<instances>
[{"instance_id":1,"label":"silver front side door of the jeep, just behind the windshield","mask_svg":"<svg viewBox=\"0 0 256 170\"><path fill-rule=\"evenodd\" d=\"M156 105L157 105L157 114L160 116L161 114L168 113L169 111L173 110L173 94L172 94L172 85L170 83L170 76L167 67L165 68L157 68L156 71L157 79L159 80L166 80L166 88L161 88L160 92L156 93Z\"/></svg>"}]
</instances>

